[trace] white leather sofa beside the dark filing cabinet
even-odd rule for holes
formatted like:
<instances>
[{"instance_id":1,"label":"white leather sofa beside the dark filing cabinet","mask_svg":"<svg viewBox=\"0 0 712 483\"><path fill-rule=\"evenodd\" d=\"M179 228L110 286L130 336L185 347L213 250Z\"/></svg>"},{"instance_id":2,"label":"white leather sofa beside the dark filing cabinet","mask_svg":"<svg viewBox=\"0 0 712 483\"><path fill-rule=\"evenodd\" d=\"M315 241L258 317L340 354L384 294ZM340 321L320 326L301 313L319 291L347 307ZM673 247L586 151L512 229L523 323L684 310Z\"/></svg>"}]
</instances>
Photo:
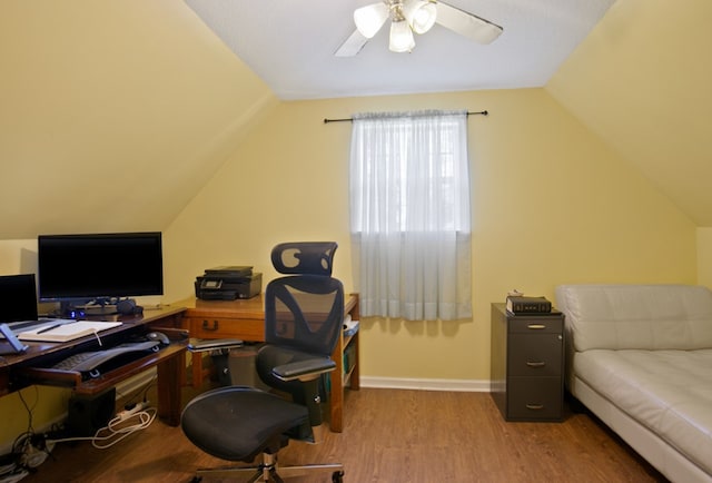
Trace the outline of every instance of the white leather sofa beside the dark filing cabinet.
<instances>
[{"instance_id":1,"label":"white leather sofa beside the dark filing cabinet","mask_svg":"<svg viewBox=\"0 0 712 483\"><path fill-rule=\"evenodd\" d=\"M712 482L712 292L562 285L568 391L673 482Z\"/></svg>"}]
</instances>

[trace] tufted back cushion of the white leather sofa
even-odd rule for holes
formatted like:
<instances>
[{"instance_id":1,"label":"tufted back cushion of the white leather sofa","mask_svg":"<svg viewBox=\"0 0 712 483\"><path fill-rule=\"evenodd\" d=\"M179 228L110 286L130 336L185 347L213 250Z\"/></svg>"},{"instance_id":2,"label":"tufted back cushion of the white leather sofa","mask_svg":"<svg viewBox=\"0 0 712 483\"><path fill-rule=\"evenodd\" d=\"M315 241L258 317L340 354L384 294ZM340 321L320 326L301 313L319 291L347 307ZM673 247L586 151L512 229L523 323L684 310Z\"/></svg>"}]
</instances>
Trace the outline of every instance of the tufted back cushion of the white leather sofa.
<instances>
[{"instance_id":1,"label":"tufted back cushion of the white leather sofa","mask_svg":"<svg viewBox=\"0 0 712 483\"><path fill-rule=\"evenodd\" d=\"M694 285L561 285L575 351L712 347L712 292Z\"/></svg>"}]
</instances>

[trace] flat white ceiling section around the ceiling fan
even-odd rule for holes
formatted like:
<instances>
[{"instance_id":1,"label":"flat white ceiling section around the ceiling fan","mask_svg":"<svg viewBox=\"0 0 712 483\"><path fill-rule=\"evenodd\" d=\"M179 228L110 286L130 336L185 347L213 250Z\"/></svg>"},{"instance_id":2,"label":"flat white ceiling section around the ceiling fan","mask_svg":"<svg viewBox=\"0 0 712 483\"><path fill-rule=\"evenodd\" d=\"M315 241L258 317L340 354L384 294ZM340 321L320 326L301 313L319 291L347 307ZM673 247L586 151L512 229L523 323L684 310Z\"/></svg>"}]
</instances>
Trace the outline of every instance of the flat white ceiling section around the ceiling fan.
<instances>
[{"instance_id":1,"label":"flat white ceiling section around the ceiling fan","mask_svg":"<svg viewBox=\"0 0 712 483\"><path fill-rule=\"evenodd\" d=\"M614 0L448 0L504 27L483 46L439 24L411 53L388 50L387 24L350 58L334 51L354 9L375 0L186 0L280 99L541 87Z\"/></svg>"}]
</instances>

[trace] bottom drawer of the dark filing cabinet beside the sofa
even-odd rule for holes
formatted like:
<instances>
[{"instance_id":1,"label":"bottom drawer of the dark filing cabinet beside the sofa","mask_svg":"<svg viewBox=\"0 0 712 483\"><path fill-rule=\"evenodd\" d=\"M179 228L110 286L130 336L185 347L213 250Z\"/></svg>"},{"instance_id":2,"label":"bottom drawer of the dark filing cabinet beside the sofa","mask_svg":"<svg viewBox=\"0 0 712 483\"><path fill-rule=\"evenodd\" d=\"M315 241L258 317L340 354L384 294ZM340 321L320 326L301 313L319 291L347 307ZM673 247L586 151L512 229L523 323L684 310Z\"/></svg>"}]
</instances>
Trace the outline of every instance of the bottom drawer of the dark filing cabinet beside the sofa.
<instances>
[{"instance_id":1,"label":"bottom drawer of the dark filing cabinet beside the sofa","mask_svg":"<svg viewBox=\"0 0 712 483\"><path fill-rule=\"evenodd\" d=\"M510 377L507 387L510 420L560 421L562 407L561 377Z\"/></svg>"}]
</instances>

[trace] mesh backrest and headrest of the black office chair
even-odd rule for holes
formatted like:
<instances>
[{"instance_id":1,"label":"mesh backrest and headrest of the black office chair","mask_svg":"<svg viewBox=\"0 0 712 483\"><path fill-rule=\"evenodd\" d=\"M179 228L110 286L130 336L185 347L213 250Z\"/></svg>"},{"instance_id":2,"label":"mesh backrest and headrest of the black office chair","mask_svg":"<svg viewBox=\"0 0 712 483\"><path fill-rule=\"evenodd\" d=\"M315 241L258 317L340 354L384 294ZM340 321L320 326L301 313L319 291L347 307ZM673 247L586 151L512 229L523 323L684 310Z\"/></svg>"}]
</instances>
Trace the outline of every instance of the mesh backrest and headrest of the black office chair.
<instances>
[{"instance_id":1,"label":"mesh backrest and headrest of the black office chair","mask_svg":"<svg viewBox=\"0 0 712 483\"><path fill-rule=\"evenodd\" d=\"M267 344L329 356L342 334L344 286L332 277L334 241L286 243L273 248L277 272L293 274L267 284Z\"/></svg>"}]
</instances>

